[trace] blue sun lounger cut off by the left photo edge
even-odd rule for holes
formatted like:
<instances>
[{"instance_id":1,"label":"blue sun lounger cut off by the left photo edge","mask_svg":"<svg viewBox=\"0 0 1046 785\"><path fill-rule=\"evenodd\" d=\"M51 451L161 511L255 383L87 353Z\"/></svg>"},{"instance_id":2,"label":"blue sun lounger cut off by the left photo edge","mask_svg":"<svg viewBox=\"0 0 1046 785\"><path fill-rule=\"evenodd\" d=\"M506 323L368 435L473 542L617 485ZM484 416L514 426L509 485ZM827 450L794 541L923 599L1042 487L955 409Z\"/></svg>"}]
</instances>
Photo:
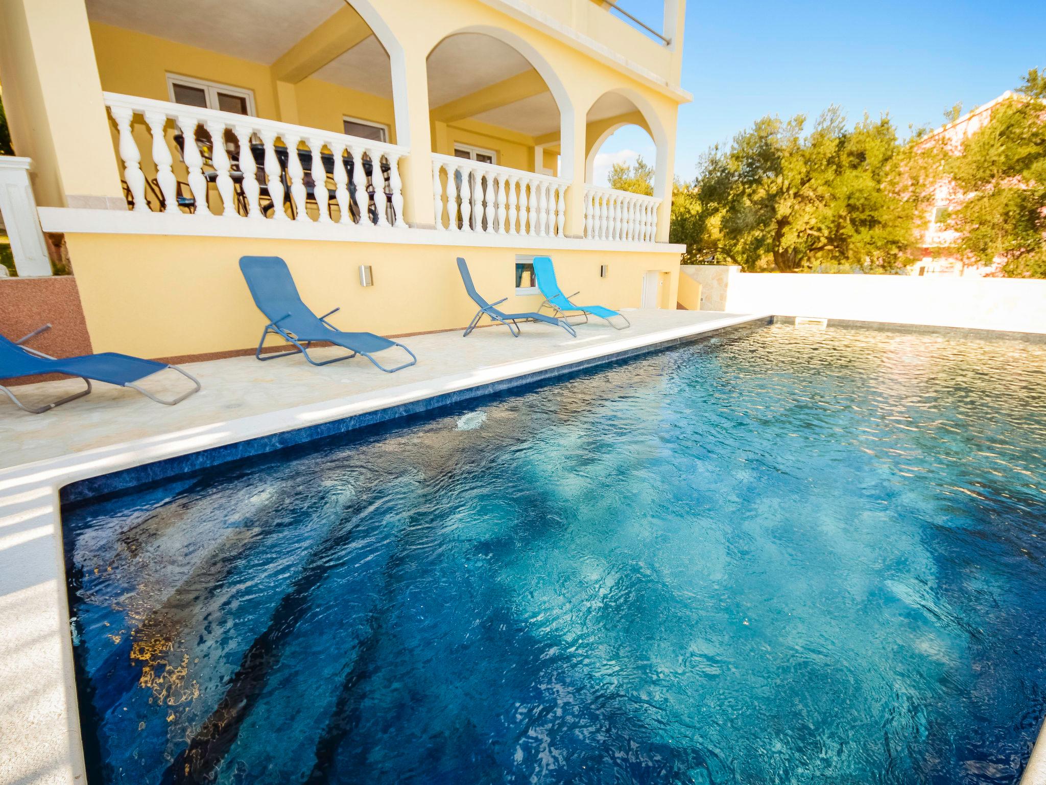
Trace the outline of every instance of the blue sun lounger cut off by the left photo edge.
<instances>
[{"instance_id":1,"label":"blue sun lounger cut off by the left photo edge","mask_svg":"<svg viewBox=\"0 0 1046 785\"><path fill-rule=\"evenodd\" d=\"M106 382L107 384L115 384L119 387L136 389L146 398L151 398L165 406L174 406L176 403L184 401L194 392L200 391L200 382L195 376L186 371L182 371L177 365L168 365L165 362L143 360L140 357L120 355L115 352L105 352L99 355L84 355L82 357L54 358L50 355L45 355L43 352L37 352L33 349L22 345L29 338L40 335L45 330L50 330L50 324L45 324L17 341L9 340L0 335L0 379L20 379L40 374L65 374L66 376L75 376L83 379L85 384L87 384L87 389L44 406L30 406L18 400L18 397L10 389L0 385L0 390L7 394L7 397L19 408L25 411L32 414L42 414L49 409L53 409L55 406L61 406L64 403L69 403L69 401L83 398L91 391L92 379L96 382ZM196 386L174 400L164 401L137 384L137 382L146 376L152 376L167 368L177 371Z\"/></svg>"}]
</instances>

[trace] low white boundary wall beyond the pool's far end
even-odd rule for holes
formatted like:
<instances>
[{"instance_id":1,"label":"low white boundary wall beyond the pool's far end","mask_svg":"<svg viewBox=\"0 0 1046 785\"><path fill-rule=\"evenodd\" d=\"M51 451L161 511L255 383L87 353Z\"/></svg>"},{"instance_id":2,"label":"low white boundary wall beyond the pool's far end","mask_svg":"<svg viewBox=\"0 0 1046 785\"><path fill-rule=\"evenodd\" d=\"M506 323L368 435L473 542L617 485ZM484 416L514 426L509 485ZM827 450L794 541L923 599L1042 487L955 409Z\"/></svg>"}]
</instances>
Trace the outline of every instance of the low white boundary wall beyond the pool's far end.
<instances>
[{"instance_id":1,"label":"low white boundary wall beyond the pool's far end","mask_svg":"<svg viewBox=\"0 0 1046 785\"><path fill-rule=\"evenodd\" d=\"M1046 279L681 270L701 283L703 311L1046 333Z\"/></svg>"}]
</instances>

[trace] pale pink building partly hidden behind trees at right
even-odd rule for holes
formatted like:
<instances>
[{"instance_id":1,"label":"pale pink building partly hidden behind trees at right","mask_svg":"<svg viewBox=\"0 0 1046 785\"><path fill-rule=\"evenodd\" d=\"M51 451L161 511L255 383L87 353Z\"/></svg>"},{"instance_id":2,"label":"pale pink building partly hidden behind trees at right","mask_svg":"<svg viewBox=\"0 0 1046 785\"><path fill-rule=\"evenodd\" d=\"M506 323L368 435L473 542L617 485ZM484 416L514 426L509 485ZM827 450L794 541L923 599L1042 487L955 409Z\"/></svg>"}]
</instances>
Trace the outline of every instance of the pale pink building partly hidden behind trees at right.
<instances>
[{"instance_id":1,"label":"pale pink building partly hidden behind trees at right","mask_svg":"<svg viewBox=\"0 0 1046 785\"><path fill-rule=\"evenodd\" d=\"M992 111L1002 102L1013 97L1007 90L998 98L977 107L972 112L959 117L953 122L941 126L924 139L920 144L929 144L931 140L945 137L950 152L958 152L963 140L987 125L992 119ZM949 180L941 180L935 188L933 206L928 216L929 223L923 232L923 259L911 268L912 275L973 275L983 277L992 275L1001 267L1001 261L990 266L979 266L964 262L955 249L957 234L945 226L943 219L948 210L956 209L962 204L964 195Z\"/></svg>"}]
</instances>

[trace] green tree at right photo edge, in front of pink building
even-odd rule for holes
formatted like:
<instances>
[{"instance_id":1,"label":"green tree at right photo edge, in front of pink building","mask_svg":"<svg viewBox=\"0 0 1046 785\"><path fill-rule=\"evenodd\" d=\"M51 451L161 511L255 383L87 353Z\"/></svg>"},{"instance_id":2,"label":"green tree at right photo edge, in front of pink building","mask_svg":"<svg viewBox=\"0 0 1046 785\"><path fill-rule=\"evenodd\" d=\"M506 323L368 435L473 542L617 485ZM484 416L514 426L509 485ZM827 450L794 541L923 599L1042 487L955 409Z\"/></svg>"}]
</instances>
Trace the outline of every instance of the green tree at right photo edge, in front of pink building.
<instances>
[{"instance_id":1,"label":"green tree at right photo edge, in front of pink building","mask_svg":"<svg viewBox=\"0 0 1046 785\"><path fill-rule=\"evenodd\" d=\"M1028 71L1020 93L965 138L947 173L965 195L948 217L958 251L1010 277L1046 277L1046 73Z\"/></svg>"}]
</instances>

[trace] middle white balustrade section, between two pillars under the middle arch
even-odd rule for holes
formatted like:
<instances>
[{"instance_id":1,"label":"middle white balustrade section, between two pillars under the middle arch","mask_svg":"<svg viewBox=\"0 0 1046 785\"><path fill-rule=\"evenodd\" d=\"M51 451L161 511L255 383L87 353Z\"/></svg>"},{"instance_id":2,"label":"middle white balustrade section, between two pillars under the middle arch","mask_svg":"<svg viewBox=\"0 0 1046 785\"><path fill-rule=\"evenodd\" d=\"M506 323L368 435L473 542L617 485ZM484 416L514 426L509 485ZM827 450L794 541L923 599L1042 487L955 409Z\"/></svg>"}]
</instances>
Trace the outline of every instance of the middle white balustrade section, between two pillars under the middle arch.
<instances>
[{"instance_id":1,"label":"middle white balustrade section, between two pillars under the middle arch","mask_svg":"<svg viewBox=\"0 0 1046 785\"><path fill-rule=\"evenodd\" d=\"M568 184L548 175L433 154L436 228L562 237Z\"/></svg>"}]
</instances>

